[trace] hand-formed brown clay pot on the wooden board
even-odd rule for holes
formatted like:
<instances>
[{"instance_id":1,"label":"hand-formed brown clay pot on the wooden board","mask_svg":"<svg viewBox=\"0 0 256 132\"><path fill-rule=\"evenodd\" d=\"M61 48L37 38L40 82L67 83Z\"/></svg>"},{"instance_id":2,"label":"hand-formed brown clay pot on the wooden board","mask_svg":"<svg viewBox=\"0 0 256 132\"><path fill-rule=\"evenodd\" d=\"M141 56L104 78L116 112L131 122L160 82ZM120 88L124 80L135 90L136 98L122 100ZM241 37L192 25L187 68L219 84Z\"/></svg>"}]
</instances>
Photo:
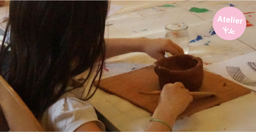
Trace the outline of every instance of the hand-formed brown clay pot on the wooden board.
<instances>
[{"instance_id":1,"label":"hand-formed brown clay pot on the wooden board","mask_svg":"<svg viewBox=\"0 0 256 132\"><path fill-rule=\"evenodd\" d=\"M154 64L161 88L165 84L182 82L189 91L198 91L204 78L203 61L192 55L173 55Z\"/></svg>"}]
</instances>

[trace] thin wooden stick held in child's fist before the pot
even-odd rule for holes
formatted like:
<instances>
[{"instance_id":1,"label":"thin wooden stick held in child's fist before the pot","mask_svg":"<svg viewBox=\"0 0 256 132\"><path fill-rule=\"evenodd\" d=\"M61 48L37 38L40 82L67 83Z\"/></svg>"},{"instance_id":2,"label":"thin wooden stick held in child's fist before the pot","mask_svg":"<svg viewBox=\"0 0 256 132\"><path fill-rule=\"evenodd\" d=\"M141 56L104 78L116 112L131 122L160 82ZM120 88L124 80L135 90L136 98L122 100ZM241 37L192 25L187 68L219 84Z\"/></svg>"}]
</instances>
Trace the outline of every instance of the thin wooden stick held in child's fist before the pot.
<instances>
[{"instance_id":1,"label":"thin wooden stick held in child's fist before the pot","mask_svg":"<svg viewBox=\"0 0 256 132\"><path fill-rule=\"evenodd\" d=\"M145 91L139 91L139 94L141 95L160 95L161 91L153 91L153 92L145 92ZM210 96L216 96L216 93L212 92L190 92L193 99L202 99Z\"/></svg>"}]
</instances>

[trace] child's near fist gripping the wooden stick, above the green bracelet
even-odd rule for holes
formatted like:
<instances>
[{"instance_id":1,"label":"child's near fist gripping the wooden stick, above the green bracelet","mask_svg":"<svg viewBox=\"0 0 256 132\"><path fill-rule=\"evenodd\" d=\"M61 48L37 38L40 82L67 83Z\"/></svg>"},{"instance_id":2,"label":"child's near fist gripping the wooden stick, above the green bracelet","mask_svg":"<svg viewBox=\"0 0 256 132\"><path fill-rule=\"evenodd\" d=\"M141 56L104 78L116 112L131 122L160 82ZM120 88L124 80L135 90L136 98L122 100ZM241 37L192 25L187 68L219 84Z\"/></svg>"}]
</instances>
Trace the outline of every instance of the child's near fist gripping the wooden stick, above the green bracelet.
<instances>
[{"instance_id":1,"label":"child's near fist gripping the wooden stick, above the green bracelet","mask_svg":"<svg viewBox=\"0 0 256 132\"><path fill-rule=\"evenodd\" d=\"M177 116L187 108L192 100L193 97L189 90L181 82L166 84L152 118L165 121L173 126Z\"/></svg>"}]
</instances>

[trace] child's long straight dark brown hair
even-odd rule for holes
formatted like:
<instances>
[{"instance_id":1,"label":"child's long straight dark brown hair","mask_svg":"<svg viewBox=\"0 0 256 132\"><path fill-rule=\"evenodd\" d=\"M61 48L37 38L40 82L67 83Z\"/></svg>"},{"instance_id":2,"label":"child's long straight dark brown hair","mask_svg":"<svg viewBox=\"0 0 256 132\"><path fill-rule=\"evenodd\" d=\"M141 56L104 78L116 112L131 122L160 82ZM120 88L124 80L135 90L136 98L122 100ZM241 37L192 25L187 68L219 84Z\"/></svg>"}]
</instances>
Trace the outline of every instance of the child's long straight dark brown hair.
<instances>
[{"instance_id":1,"label":"child's long straight dark brown hair","mask_svg":"<svg viewBox=\"0 0 256 132\"><path fill-rule=\"evenodd\" d=\"M3 40L9 32L10 44L0 51L0 69L10 53L9 70L1 75L37 118L65 93L72 77L90 69L89 77L95 67L101 77L107 11L108 1L10 2Z\"/></svg>"}]
</instances>

